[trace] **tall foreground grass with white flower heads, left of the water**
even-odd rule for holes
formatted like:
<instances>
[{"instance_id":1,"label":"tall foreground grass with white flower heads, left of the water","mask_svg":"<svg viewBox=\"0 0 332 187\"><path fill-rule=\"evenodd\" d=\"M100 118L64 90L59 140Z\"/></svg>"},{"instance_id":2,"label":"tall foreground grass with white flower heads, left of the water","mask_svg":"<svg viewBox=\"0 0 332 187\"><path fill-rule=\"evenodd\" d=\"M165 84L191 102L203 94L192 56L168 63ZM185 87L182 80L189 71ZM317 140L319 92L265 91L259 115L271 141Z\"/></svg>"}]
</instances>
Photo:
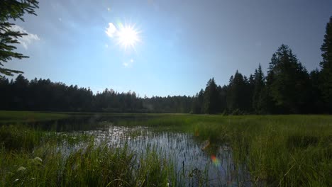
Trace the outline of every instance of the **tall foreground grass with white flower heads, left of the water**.
<instances>
[{"instance_id":1,"label":"tall foreground grass with white flower heads, left of the water","mask_svg":"<svg viewBox=\"0 0 332 187\"><path fill-rule=\"evenodd\" d=\"M176 186L172 163L153 148L138 156L127 146L96 145L84 135L70 142L17 126L3 126L0 134L11 134L7 142L0 137L0 186Z\"/></svg>"}]
</instances>

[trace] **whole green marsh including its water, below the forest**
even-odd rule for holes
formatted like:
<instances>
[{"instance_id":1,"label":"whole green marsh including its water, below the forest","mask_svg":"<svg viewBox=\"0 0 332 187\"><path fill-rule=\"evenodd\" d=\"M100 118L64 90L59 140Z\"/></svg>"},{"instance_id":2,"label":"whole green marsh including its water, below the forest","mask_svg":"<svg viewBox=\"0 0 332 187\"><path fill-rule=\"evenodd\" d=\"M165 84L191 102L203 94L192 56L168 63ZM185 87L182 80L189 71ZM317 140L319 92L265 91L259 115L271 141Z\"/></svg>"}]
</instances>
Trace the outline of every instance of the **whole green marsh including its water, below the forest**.
<instances>
[{"instance_id":1,"label":"whole green marsh including its water, below the forest","mask_svg":"<svg viewBox=\"0 0 332 187\"><path fill-rule=\"evenodd\" d=\"M89 128L37 128L70 118ZM332 186L331 115L1 111L0 123L0 186ZM167 144L199 149L175 157ZM188 154L211 167L177 161ZM221 167L222 180L205 180Z\"/></svg>"}]
</instances>

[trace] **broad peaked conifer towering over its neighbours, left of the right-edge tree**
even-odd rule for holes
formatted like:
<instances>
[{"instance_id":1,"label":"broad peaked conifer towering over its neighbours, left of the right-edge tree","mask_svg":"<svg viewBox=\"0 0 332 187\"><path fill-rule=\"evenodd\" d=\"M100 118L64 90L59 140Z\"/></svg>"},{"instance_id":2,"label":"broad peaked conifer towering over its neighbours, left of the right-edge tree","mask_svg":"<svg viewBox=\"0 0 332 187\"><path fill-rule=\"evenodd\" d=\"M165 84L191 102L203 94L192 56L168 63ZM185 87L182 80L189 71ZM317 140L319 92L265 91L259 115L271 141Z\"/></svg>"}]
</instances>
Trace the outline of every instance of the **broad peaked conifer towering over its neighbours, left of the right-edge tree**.
<instances>
[{"instance_id":1,"label":"broad peaked conifer towering over its neighbours, left of the right-edge tree","mask_svg":"<svg viewBox=\"0 0 332 187\"><path fill-rule=\"evenodd\" d=\"M308 101L309 74L287 45L272 55L267 73L268 93L277 113L301 113Z\"/></svg>"}]
</instances>

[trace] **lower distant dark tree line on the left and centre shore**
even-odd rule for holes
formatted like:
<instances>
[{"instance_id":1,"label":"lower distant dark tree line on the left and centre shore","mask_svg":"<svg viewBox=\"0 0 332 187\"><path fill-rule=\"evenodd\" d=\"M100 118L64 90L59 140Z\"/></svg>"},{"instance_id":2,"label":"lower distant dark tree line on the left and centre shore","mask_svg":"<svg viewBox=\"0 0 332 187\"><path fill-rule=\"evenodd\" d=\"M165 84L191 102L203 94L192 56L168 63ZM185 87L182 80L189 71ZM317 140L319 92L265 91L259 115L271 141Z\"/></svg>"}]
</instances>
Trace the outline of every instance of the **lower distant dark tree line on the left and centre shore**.
<instances>
[{"instance_id":1,"label":"lower distant dark tree line on the left and centre shore","mask_svg":"<svg viewBox=\"0 0 332 187\"><path fill-rule=\"evenodd\" d=\"M93 94L90 89L50 79L28 81L21 74L15 81L0 78L0 94L0 110L189 113L192 106L189 96L141 98L135 92L112 89Z\"/></svg>"}]
</instances>

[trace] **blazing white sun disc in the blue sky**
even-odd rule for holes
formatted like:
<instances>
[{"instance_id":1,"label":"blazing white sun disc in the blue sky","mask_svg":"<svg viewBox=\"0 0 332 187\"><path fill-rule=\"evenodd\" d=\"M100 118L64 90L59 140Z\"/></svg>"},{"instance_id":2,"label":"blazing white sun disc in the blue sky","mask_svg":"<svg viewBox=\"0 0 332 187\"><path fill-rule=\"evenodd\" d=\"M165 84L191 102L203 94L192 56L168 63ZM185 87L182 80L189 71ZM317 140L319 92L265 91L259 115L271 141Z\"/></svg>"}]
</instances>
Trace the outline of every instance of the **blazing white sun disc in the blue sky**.
<instances>
[{"instance_id":1,"label":"blazing white sun disc in the blue sky","mask_svg":"<svg viewBox=\"0 0 332 187\"><path fill-rule=\"evenodd\" d=\"M139 31L135 29L135 25L121 26L118 30L118 44L125 50L135 48L137 42L140 42Z\"/></svg>"}]
</instances>

